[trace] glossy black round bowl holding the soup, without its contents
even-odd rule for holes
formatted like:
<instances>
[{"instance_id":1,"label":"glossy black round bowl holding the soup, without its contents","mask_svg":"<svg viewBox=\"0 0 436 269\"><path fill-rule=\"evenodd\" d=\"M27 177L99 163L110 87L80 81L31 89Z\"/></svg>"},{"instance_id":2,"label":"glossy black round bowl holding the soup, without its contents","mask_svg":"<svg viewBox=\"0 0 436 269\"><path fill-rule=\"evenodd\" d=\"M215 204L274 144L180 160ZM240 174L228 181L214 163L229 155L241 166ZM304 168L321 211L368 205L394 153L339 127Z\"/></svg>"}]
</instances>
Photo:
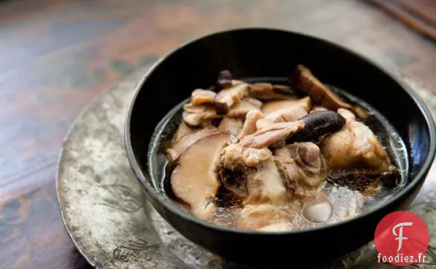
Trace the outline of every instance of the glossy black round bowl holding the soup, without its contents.
<instances>
[{"instance_id":1,"label":"glossy black round bowl holding the soup, without its contents","mask_svg":"<svg viewBox=\"0 0 436 269\"><path fill-rule=\"evenodd\" d=\"M397 129L407 145L408 184L387 203L356 218L306 231L261 233L229 229L193 217L161 188L156 154L170 110L195 88L208 88L223 69L234 77L287 77L304 64L322 81L367 101ZM175 113L173 110L172 114ZM167 115L168 114L168 115ZM165 120L162 118L167 115ZM159 126L158 126L159 124ZM152 143L150 143L152 141ZM406 209L420 190L435 156L431 114L409 86L389 71L337 44L277 29L234 29L211 34L162 57L139 84L125 119L125 146L149 201L176 230L213 253L243 262L283 257L315 261L352 251L374 239L378 222ZM150 150L152 149L152 150Z\"/></svg>"}]
</instances>

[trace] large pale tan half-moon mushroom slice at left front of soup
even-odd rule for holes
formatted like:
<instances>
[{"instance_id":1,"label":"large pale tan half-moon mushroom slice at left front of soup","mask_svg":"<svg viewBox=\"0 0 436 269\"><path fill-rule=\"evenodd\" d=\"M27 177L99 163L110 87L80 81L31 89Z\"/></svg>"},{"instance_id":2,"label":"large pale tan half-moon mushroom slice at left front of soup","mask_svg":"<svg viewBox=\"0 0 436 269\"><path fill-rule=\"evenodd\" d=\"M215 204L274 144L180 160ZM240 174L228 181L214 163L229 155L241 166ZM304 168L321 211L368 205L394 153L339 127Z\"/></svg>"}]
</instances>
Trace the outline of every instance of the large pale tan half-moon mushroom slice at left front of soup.
<instances>
[{"instance_id":1,"label":"large pale tan half-moon mushroom slice at left front of soup","mask_svg":"<svg viewBox=\"0 0 436 269\"><path fill-rule=\"evenodd\" d=\"M217 175L219 155L228 140L227 133L215 133L198 140L180 155L171 175L174 195L189 205L197 218L207 220L214 215L214 198L221 185Z\"/></svg>"}]
</instances>

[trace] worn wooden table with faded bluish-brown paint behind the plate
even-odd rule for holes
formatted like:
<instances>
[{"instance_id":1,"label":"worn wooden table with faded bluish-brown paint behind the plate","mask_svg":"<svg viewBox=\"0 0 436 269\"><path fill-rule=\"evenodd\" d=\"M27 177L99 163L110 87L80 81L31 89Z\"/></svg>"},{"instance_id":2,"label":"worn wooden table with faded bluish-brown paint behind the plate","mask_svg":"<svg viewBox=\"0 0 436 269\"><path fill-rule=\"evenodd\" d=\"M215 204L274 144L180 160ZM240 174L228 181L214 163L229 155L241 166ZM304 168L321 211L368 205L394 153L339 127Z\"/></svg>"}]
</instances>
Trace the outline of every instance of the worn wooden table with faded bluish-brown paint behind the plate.
<instances>
[{"instance_id":1,"label":"worn wooden table with faded bluish-brown paint behind the plate","mask_svg":"<svg viewBox=\"0 0 436 269\"><path fill-rule=\"evenodd\" d=\"M365 1L0 1L0 268L87 268L54 183L73 118L181 43L247 26L321 36L436 88L436 44Z\"/></svg>"}]
</instances>

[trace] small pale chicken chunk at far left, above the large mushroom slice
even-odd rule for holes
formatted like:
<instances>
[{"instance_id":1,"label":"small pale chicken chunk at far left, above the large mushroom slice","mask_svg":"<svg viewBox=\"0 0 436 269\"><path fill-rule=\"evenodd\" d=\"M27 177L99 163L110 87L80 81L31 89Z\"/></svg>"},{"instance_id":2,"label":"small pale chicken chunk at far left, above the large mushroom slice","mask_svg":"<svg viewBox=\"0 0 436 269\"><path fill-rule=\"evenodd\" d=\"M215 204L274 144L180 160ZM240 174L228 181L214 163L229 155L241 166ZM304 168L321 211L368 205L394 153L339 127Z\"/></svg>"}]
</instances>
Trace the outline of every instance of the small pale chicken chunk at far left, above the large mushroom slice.
<instances>
[{"instance_id":1,"label":"small pale chicken chunk at far left, above the large mushroom slice","mask_svg":"<svg viewBox=\"0 0 436 269\"><path fill-rule=\"evenodd\" d=\"M208 126L211 120L219 117L213 107L194 105L193 103L187 103L183 106L182 118L191 127Z\"/></svg>"}]
</instances>

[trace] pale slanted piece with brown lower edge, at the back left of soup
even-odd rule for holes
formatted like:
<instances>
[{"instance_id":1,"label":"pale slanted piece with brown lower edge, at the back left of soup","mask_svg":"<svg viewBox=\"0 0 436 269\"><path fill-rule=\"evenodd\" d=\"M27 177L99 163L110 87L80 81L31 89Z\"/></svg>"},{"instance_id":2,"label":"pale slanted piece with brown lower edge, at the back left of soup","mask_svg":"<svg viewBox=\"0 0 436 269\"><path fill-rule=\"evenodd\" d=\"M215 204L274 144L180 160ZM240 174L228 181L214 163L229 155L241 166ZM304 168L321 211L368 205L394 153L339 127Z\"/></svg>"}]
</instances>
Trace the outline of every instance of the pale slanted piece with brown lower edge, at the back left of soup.
<instances>
[{"instance_id":1,"label":"pale slanted piece with brown lower edge, at the back left of soup","mask_svg":"<svg viewBox=\"0 0 436 269\"><path fill-rule=\"evenodd\" d=\"M237 84L218 92L214 100L215 110L219 115L226 115L232 105L239 103L248 95L248 84Z\"/></svg>"}]
</instances>

